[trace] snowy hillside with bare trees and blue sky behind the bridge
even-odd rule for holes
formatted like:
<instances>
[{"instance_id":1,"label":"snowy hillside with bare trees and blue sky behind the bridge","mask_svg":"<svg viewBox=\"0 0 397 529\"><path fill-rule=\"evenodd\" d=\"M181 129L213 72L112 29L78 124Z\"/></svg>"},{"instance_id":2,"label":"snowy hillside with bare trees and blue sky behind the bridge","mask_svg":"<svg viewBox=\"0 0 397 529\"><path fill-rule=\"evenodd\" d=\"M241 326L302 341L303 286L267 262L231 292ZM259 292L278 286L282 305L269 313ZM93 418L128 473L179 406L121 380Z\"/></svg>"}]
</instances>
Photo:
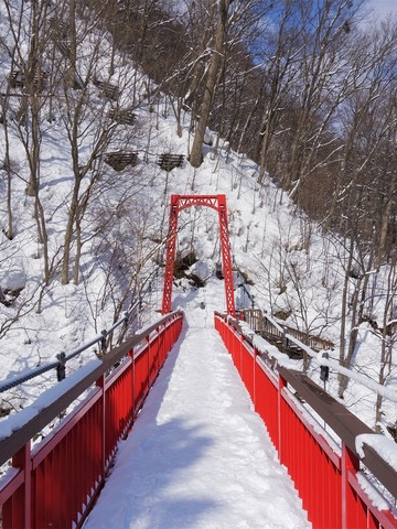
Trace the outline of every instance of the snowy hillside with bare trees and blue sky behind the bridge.
<instances>
[{"instance_id":1,"label":"snowy hillside with bare trees and blue sky behind the bridge","mask_svg":"<svg viewBox=\"0 0 397 529\"><path fill-rule=\"evenodd\" d=\"M397 25L369 22L352 0L4 0L2 378L109 327L149 278L135 325L154 317L170 194L225 193L238 307L255 296L396 387ZM183 214L179 295L215 274L216 223ZM2 413L51 384L4 393ZM393 404L330 384L393 430Z\"/></svg>"}]
</instances>

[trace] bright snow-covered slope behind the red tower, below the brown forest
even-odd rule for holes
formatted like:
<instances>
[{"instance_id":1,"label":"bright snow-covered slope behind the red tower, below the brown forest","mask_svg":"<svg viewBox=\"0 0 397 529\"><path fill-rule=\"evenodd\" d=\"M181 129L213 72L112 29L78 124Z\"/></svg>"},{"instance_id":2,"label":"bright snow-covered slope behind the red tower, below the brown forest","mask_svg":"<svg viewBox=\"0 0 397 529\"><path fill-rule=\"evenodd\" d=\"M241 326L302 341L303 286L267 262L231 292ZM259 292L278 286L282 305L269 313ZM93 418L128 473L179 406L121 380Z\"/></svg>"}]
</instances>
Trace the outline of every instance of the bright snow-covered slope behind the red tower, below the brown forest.
<instances>
[{"instance_id":1,"label":"bright snow-covered slope behind the red tower, below the brown forest","mask_svg":"<svg viewBox=\"0 0 397 529\"><path fill-rule=\"evenodd\" d=\"M8 13L4 7L0 9L1 32L11 40L7 31ZM105 99L89 79L99 74L107 77L104 71L111 53L110 45L94 32L82 36L82 50L85 53L78 62L78 69L87 79L86 88L58 88L60 97L44 98L40 110L40 186L36 196L26 195L31 174L31 160L26 155L26 152L32 153L31 116L26 118L28 125L18 118L21 102L18 88L11 90L18 96L9 95L8 98L8 136L0 125L1 161L4 161L7 141L10 143L14 222L13 238L9 240L4 233L8 172L3 166L0 180L3 197L0 222L4 227L0 239L0 285L9 292L9 306L0 304L1 378L54 359L61 350L71 350L108 328L137 299L146 279L160 266L154 289L144 300L139 321L133 322L131 328L157 316L161 306L161 262L172 193L226 194L232 251L236 270L244 276L243 279L242 274L235 274L237 307L250 306L250 300L238 288L245 282L257 306L283 315L288 324L304 332L331 339L335 344L331 356L337 359L344 270L348 260L347 249L337 237L323 235L320 227L297 210L269 177L265 185L259 185L257 165L230 150L222 139L216 141L216 134L211 131L207 131L207 144L204 145L204 161L200 169L193 169L186 161L193 133L191 115L182 112L182 133L178 136L170 98L157 93L149 79L133 68L128 56L118 54L110 82L119 86L121 97L117 104ZM93 55L97 56L94 65ZM0 76L3 86L11 67L10 56L2 52ZM75 144L78 147L79 169L76 169L71 141L72 118L76 116L83 93L85 107L77 123ZM131 107L133 125L115 123L109 117L115 107ZM103 133L106 133L105 139L100 136ZM98 145L103 148L104 144L105 149L100 151ZM96 149L98 153L93 156ZM137 164L122 171L107 165L105 153L118 149L137 152ZM161 170L157 163L161 153L183 154L182 168L170 173ZM77 199L82 212L83 206L85 208L73 233L69 282L62 284L65 234L78 171L83 176ZM37 234L40 219L45 224L46 248ZM190 272L205 282L215 274L221 261L217 217L208 208L191 208L181 214L180 226L178 255L180 258L190 256L191 260L194 255L196 262ZM79 251L77 267L72 273L72 263ZM51 273L43 279L45 259ZM350 281L353 287L356 279L352 276ZM377 320L377 315L380 319L383 313L385 281L386 276L380 272L374 282L379 295L372 307L373 320ZM192 283L189 277L175 280L175 304L190 295L195 288ZM10 291L21 292L12 301ZM225 300L219 299L218 310L224 309ZM377 380L382 336L369 322L362 323L358 333L355 368ZM68 373L95 355L94 348L83 353L68 364ZM309 374L318 380L318 370L309 370ZM3 412L25 407L53 384L55 374L51 373L3 393ZM397 387L396 363L391 360L387 385ZM330 390L336 395L336 377L332 377ZM374 393L354 382L345 392L345 403L371 427L374 425L375 399ZM396 404L385 402L383 410L384 424L394 424Z\"/></svg>"}]
</instances>

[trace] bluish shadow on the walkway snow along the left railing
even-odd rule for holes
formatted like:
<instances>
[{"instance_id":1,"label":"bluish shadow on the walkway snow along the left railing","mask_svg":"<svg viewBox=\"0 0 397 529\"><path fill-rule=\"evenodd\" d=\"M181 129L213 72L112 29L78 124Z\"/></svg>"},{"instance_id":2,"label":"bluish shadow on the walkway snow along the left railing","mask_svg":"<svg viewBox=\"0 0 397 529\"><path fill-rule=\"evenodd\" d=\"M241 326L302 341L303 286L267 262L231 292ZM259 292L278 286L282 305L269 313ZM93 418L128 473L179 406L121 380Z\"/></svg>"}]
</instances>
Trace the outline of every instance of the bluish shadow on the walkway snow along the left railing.
<instances>
[{"instance_id":1,"label":"bluish shadow on the walkway snow along the left railing","mask_svg":"<svg viewBox=\"0 0 397 529\"><path fill-rule=\"evenodd\" d=\"M205 490L200 497L183 487L183 474L213 445L198 424L159 411L189 325L171 350L85 527L189 528L217 507ZM103 526L100 525L103 523Z\"/></svg>"}]
</instances>

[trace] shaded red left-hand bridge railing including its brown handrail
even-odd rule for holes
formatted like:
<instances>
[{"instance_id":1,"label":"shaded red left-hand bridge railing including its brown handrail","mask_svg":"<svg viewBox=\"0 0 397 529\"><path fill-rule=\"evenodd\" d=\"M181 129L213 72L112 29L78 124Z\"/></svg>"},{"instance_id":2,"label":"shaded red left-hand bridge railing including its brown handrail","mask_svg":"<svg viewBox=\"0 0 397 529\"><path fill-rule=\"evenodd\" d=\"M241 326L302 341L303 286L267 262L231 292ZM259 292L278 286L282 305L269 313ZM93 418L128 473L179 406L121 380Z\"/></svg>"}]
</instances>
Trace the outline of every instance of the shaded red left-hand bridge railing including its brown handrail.
<instances>
[{"instance_id":1,"label":"shaded red left-hand bridge railing including its brown handrail","mask_svg":"<svg viewBox=\"0 0 397 529\"><path fill-rule=\"evenodd\" d=\"M88 375L78 378L77 371L60 382L56 400L0 442L0 465L12 460L0 481L2 529L83 525L182 321L181 312L168 314L110 350ZM88 397L32 447L32 439L86 390Z\"/></svg>"}]
</instances>

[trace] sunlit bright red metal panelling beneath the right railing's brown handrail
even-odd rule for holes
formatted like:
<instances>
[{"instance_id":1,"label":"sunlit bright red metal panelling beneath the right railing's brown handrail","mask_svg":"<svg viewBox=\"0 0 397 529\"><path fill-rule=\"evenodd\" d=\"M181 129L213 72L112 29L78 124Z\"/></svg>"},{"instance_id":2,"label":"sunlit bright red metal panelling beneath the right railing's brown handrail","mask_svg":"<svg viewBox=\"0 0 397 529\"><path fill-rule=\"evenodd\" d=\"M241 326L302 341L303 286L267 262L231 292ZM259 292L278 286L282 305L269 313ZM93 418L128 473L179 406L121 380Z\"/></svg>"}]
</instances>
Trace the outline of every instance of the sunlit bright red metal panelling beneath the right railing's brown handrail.
<instances>
[{"instance_id":1,"label":"sunlit bright red metal panelling beneath the right railing's brown handrail","mask_svg":"<svg viewBox=\"0 0 397 529\"><path fill-rule=\"evenodd\" d=\"M232 354L245 385L249 386L248 355L245 342L236 345L236 330L224 319L215 316L215 327ZM236 355L238 348L242 355ZM326 436L314 430L300 404L287 389L286 381L258 357L253 363L255 409L262 418L270 439L286 465L302 499L313 528L396 529L397 520L390 510L379 511L358 485L358 460L347 446L342 457L328 443Z\"/></svg>"}]
</instances>

